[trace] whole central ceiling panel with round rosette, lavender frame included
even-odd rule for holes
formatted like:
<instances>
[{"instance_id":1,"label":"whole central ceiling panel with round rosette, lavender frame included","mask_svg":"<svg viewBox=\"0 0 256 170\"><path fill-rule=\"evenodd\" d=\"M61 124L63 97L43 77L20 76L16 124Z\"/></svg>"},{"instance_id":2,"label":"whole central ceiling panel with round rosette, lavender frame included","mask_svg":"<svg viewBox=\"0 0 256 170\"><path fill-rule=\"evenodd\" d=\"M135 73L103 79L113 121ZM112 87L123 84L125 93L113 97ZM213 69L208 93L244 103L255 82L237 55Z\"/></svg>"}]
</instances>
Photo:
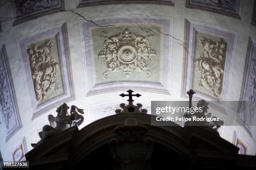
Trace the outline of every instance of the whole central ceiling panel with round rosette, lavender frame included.
<instances>
[{"instance_id":1,"label":"whole central ceiling panel with round rosette, lavender frame included","mask_svg":"<svg viewBox=\"0 0 256 170\"><path fill-rule=\"evenodd\" d=\"M172 18L94 21L115 27L81 21L87 95L127 87L168 92L172 40L161 32L172 34Z\"/></svg>"}]
</instances>

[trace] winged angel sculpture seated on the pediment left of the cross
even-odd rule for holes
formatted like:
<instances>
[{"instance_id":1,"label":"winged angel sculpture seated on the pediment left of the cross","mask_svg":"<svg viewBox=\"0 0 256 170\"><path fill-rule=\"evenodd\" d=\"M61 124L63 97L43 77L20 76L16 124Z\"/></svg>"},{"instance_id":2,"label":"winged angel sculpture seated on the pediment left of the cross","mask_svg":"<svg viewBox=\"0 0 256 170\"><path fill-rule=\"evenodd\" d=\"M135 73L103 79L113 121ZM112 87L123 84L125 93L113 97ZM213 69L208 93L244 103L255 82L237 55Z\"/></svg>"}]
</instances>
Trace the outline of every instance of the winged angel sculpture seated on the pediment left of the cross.
<instances>
[{"instance_id":1,"label":"winged angel sculpture seated on the pediment left of the cross","mask_svg":"<svg viewBox=\"0 0 256 170\"><path fill-rule=\"evenodd\" d=\"M38 143L32 143L31 146L33 148L71 126L79 126L82 124L84 117L79 115L79 113L84 114L83 109L79 109L72 105L70 109L70 115L68 114L68 109L69 106L66 103L63 103L57 108L56 112L58 114L56 117L53 115L48 115L50 125L44 125L42 132L38 133L41 140Z\"/></svg>"}]
</instances>

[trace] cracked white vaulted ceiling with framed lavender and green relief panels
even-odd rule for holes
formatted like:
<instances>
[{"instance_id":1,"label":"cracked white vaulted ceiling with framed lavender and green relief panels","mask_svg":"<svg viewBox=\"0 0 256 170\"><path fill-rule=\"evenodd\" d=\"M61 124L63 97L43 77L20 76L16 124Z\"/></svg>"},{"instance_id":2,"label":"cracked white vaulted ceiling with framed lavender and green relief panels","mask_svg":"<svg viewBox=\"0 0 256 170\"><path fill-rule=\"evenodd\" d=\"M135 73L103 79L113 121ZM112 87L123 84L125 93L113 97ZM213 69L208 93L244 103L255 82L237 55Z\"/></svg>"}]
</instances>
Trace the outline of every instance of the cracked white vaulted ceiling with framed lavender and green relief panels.
<instances>
[{"instance_id":1,"label":"cracked white vaulted ceiling with framed lavender and green relief panels","mask_svg":"<svg viewBox=\"0 0 256 170\"><path fill-rule=\"evenodd\" d=\"M256 99L253 0L0 2L5 160L23 159L18 150L31 149L61 103L83 107L85 126L114 114L128 89L149 113L152 100L188 100L195 90L232 125L221 136L255 155L256 115L220 102Z\"/></svg>"}]
</instances>

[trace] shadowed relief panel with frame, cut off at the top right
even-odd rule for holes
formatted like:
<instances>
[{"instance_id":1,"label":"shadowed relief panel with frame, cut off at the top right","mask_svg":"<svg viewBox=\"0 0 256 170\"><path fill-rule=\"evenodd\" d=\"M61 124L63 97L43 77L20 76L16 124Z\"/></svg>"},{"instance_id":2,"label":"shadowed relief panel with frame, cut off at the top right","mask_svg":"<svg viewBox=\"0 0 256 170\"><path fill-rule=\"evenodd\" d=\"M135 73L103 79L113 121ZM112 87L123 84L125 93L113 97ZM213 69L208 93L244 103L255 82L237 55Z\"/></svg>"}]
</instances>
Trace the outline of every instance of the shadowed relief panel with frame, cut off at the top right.
<instances>
[{"instance_id":1,"label":"shadowed relief panel with frame, cut off at the top right","mask_svg":"<svg viewBox=\"0 0 256 170\"><path fill-rule=\"evenodd\" d=\"M186 0L186 7L241 19L242 0Z\"/></svg>"}]
</instances>

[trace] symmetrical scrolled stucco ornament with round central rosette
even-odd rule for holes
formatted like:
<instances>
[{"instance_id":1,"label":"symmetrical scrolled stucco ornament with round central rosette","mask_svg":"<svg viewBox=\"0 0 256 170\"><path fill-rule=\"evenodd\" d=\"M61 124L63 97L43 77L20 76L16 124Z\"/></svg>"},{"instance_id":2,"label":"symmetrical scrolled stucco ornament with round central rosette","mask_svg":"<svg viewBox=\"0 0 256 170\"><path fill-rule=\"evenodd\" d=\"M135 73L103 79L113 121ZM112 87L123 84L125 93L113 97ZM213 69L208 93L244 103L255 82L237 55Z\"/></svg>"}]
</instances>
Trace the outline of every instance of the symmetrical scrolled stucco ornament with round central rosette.
<instances>
[{"instance_id":1,"label":"symmetrical scrolled stucco ornament with round central rosette","mask_svg":"<svg viewBox=\"0 0 256 170\"><path fill-rule=\"evenodd\" d=\"M147 77L151 77L148 65L156 57L156 51L151 49L149 41L152 36L152 30L146 30L146 36L143 36L126 28L110 37L107 31L102 31L100 37L105 40L104 49L99 52L98 58L107 68L103 77L108 78L108 72L123 72L125 77L132 72L146 72Z\"/></svg>"}]
</instances>

